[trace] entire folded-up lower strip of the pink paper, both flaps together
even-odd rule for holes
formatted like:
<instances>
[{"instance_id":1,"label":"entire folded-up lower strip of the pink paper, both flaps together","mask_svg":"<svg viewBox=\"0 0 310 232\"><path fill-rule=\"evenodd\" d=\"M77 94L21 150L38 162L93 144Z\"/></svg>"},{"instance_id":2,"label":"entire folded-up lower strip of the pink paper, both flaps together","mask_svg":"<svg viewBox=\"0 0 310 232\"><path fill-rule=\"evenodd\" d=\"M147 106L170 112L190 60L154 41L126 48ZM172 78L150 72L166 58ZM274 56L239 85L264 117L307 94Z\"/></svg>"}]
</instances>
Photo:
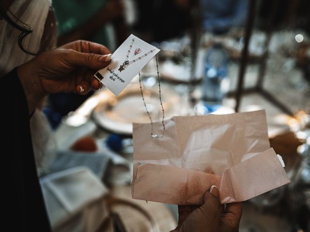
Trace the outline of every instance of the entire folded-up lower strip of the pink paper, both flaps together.
<instances>
[{"instance_id":1,"label":"entire folded-up lower strip of the pink paper, both flaps together","mask_svg":"<svg viewBox=\"0 0 310 232\"><path fill-rule=\"evenodd\" d=\"M132 197L162 203L201 204L204 192L216 185L223 204L245 201L289 182L270 148L227 169L222 176L166 165L138 165Z\"/></svg>"}]
</instances>

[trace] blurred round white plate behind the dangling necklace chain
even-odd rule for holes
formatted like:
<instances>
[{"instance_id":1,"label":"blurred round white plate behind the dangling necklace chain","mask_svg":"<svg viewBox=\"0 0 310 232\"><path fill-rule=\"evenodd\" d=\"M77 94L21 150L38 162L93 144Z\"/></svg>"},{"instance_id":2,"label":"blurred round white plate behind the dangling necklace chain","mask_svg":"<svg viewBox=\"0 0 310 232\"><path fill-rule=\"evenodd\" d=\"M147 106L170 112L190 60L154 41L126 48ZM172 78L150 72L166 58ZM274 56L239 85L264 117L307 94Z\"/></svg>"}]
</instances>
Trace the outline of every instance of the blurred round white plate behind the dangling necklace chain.
<instances>
[{"instance_id":1,"label":"blurred round white plate behind the dangling necklace chain","mask_svg":"<svg viewBox=\"0 0 310 232\"><path fill-rule=\"evenodd\" d=\"M162 87L162 100L165 119L180 115L180 98L171 89ZM161 121L162 110L159 102L158 86L143 88L146 104L153 121ZM150 123L141 97L139 83L132 83L115 96L108 89L102 91L103 98L94 108L92 118L102 128L119 134L131 135L132 123Z\"/></svg>"}]
</instances>

